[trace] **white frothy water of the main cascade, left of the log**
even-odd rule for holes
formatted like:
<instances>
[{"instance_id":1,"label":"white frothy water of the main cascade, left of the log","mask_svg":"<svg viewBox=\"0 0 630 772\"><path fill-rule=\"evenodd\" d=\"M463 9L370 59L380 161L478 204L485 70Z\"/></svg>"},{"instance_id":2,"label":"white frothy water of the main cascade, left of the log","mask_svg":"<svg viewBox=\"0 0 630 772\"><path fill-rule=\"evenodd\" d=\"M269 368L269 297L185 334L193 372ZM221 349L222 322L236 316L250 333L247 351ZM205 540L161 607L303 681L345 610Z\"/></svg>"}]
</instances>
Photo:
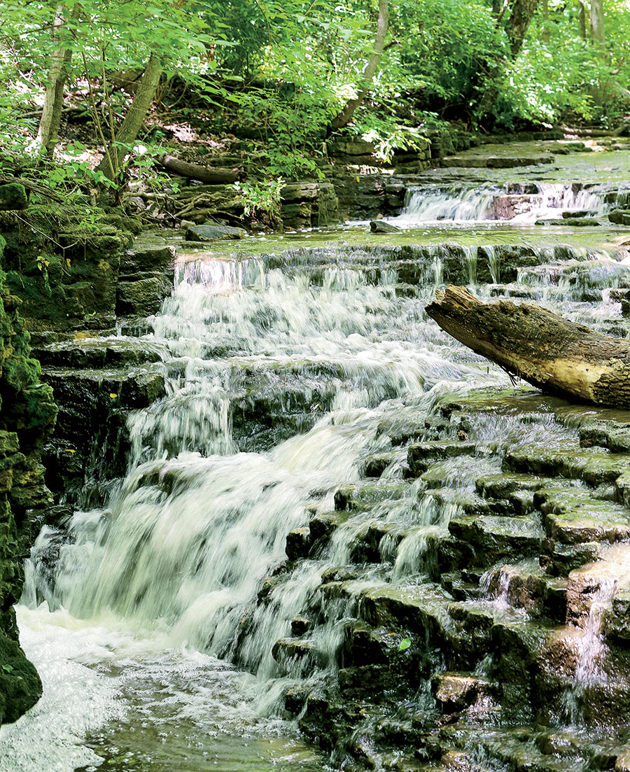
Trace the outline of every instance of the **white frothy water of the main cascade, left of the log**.
<instances>
[{"instance_id":1,"label":"white frothy water of the main cascade, left of the log","mask_svg":"<svg viewBox=\"0 0 630 772\"><path fill-rule=\"evenodd\" d=\"M367 286L349 270L331 269L315 287L255 260L181 268L151 336L170 352L167 396L130 417L127 479L106 510L75 514L53 582L37 565L59 534L42 532L33 550L24 594L31 608L20 609L20 620L45 693L0 730L2 772L95 764L85 736L124 722L138 703L158 726L164 692L202 733L213 720L212 731L252 731L258 713L269 713L283 687L274 680L273 643L287 635L323 570L307 564L256 608L263 578L285 560L286 534L307 523L307 507L331 510L334 491L357 479L364 458L388 449L384 418L404 405L426 414L444 395L506 384L485 364L452 361L452 341L428 326L421 303L397 299L391 286ZM310 394L318 378L330 401L306 434L270 452L241 453L232 404L261 374L280 407L294 387ZM392 556L397 577L415 570L427 533L444 529L430 512L418 514L417 498L412 486L395 511L372 513L415 523ZM330 565L347 562L359 524L338 529ZM321 635L317 645L334 652L339 628ZM257 672L255 692L216 656ZM182 668L208 682L194 699L178 686ZM126 686L127 672L141 686ZM266 720L259 732L290 732L278 726Z\"/></svg>"}]
</instances>

